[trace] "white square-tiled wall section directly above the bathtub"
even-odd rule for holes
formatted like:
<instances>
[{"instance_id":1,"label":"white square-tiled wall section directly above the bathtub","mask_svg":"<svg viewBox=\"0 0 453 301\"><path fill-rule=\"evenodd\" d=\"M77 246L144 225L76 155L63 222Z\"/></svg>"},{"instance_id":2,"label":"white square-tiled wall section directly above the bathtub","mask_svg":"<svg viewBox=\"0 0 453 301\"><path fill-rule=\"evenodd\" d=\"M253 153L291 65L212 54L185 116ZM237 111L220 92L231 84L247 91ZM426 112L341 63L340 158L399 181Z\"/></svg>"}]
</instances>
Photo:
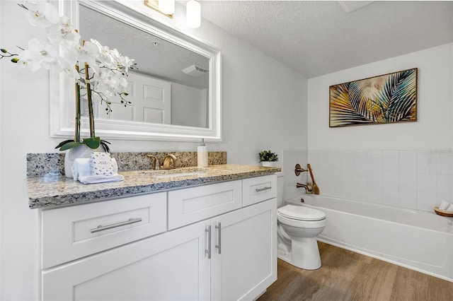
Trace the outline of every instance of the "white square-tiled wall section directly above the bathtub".
<instances>
[{"instance_id":1,"label":"white square-tiled wall section directly above the bathtub","mask_svg":"<svg viewBox=\"0 0 453 301\"><path fill-rule=\"evenodd\" d=\"M326 196L423 211L453 203L451 149L310 150L308 162Z\"/></svg>"}]
</instances>

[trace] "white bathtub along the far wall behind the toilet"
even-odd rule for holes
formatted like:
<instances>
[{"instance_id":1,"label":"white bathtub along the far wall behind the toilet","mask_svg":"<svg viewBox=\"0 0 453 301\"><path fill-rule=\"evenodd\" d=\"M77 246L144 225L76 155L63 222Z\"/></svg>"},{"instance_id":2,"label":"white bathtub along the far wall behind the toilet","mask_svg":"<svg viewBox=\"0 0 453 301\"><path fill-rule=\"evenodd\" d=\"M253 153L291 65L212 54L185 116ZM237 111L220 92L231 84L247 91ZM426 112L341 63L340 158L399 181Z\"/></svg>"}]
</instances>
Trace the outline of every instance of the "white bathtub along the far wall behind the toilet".
<instances>
[{"instance_id":1,"label":"white bathtub along the far wall behind the toilet","mask_svg":"<svg viewBox=\"0 0 453 301\"><path fill-rule=\"evenodd\" d=\"M453 282L453 218L327 196L285 203L317 208L327 225L317 239Z\"/></svg>"}]
</instances>

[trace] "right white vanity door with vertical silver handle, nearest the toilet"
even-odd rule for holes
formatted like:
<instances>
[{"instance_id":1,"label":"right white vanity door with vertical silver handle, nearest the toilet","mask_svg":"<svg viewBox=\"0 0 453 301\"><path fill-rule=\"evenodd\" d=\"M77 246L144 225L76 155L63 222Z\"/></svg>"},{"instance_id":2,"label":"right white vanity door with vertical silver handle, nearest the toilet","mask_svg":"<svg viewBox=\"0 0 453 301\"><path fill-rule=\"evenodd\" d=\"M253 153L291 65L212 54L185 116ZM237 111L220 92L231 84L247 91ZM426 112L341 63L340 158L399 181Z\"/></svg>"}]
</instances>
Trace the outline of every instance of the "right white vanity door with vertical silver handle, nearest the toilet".
<instances>
[{"instance_id":1,"label":"right white vanity door with vertical silver handle, nearest the toilet","mask_svg":"<svg viewBox=\"0 0 453 301\"><path fill-rule=\"evenodd\" d=\"M254 300L277 280L277 200L212 218L212 300Z\"/></svg>"}]
</instances>

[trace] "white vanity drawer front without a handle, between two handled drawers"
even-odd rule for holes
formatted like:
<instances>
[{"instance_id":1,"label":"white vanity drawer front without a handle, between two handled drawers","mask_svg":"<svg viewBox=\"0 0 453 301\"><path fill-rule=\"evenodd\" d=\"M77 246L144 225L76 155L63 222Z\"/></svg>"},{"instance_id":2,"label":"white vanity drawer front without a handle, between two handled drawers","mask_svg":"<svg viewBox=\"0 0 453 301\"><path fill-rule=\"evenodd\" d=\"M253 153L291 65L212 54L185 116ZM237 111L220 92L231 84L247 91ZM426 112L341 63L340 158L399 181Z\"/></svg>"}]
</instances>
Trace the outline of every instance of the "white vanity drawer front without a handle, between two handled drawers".
<instances>
[{"instance_id":1,"label":"white vanity drawer front without a handle, between two handled drawers","mask_svg":"<svg viewBox=\"0 0 453 301\"><path fill-rule=\"evenodd\" d=\"M241 191L241 180L169 191L168 230L241 208Z\"/></svg>"}]
</instances>

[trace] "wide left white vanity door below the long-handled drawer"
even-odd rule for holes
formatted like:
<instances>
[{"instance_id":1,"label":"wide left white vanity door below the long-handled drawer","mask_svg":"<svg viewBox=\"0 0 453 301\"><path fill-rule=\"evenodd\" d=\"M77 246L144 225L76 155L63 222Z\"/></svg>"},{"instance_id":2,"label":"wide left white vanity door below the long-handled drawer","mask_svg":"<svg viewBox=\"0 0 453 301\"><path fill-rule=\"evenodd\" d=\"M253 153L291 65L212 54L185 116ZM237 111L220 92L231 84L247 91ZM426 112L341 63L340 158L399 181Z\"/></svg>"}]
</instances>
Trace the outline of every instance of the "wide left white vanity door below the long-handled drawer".
<instances>
[{"instance_id":1,"label":"wide left white vanity door below the long-handled drawer","mask_svg":"<svg viewBox=\"0 0 453 301\"><path fill-rule=\"evenodd\" d=\"M42 272L42 300L209 300L207 223Z\"/></svg>"}]
</instances>

